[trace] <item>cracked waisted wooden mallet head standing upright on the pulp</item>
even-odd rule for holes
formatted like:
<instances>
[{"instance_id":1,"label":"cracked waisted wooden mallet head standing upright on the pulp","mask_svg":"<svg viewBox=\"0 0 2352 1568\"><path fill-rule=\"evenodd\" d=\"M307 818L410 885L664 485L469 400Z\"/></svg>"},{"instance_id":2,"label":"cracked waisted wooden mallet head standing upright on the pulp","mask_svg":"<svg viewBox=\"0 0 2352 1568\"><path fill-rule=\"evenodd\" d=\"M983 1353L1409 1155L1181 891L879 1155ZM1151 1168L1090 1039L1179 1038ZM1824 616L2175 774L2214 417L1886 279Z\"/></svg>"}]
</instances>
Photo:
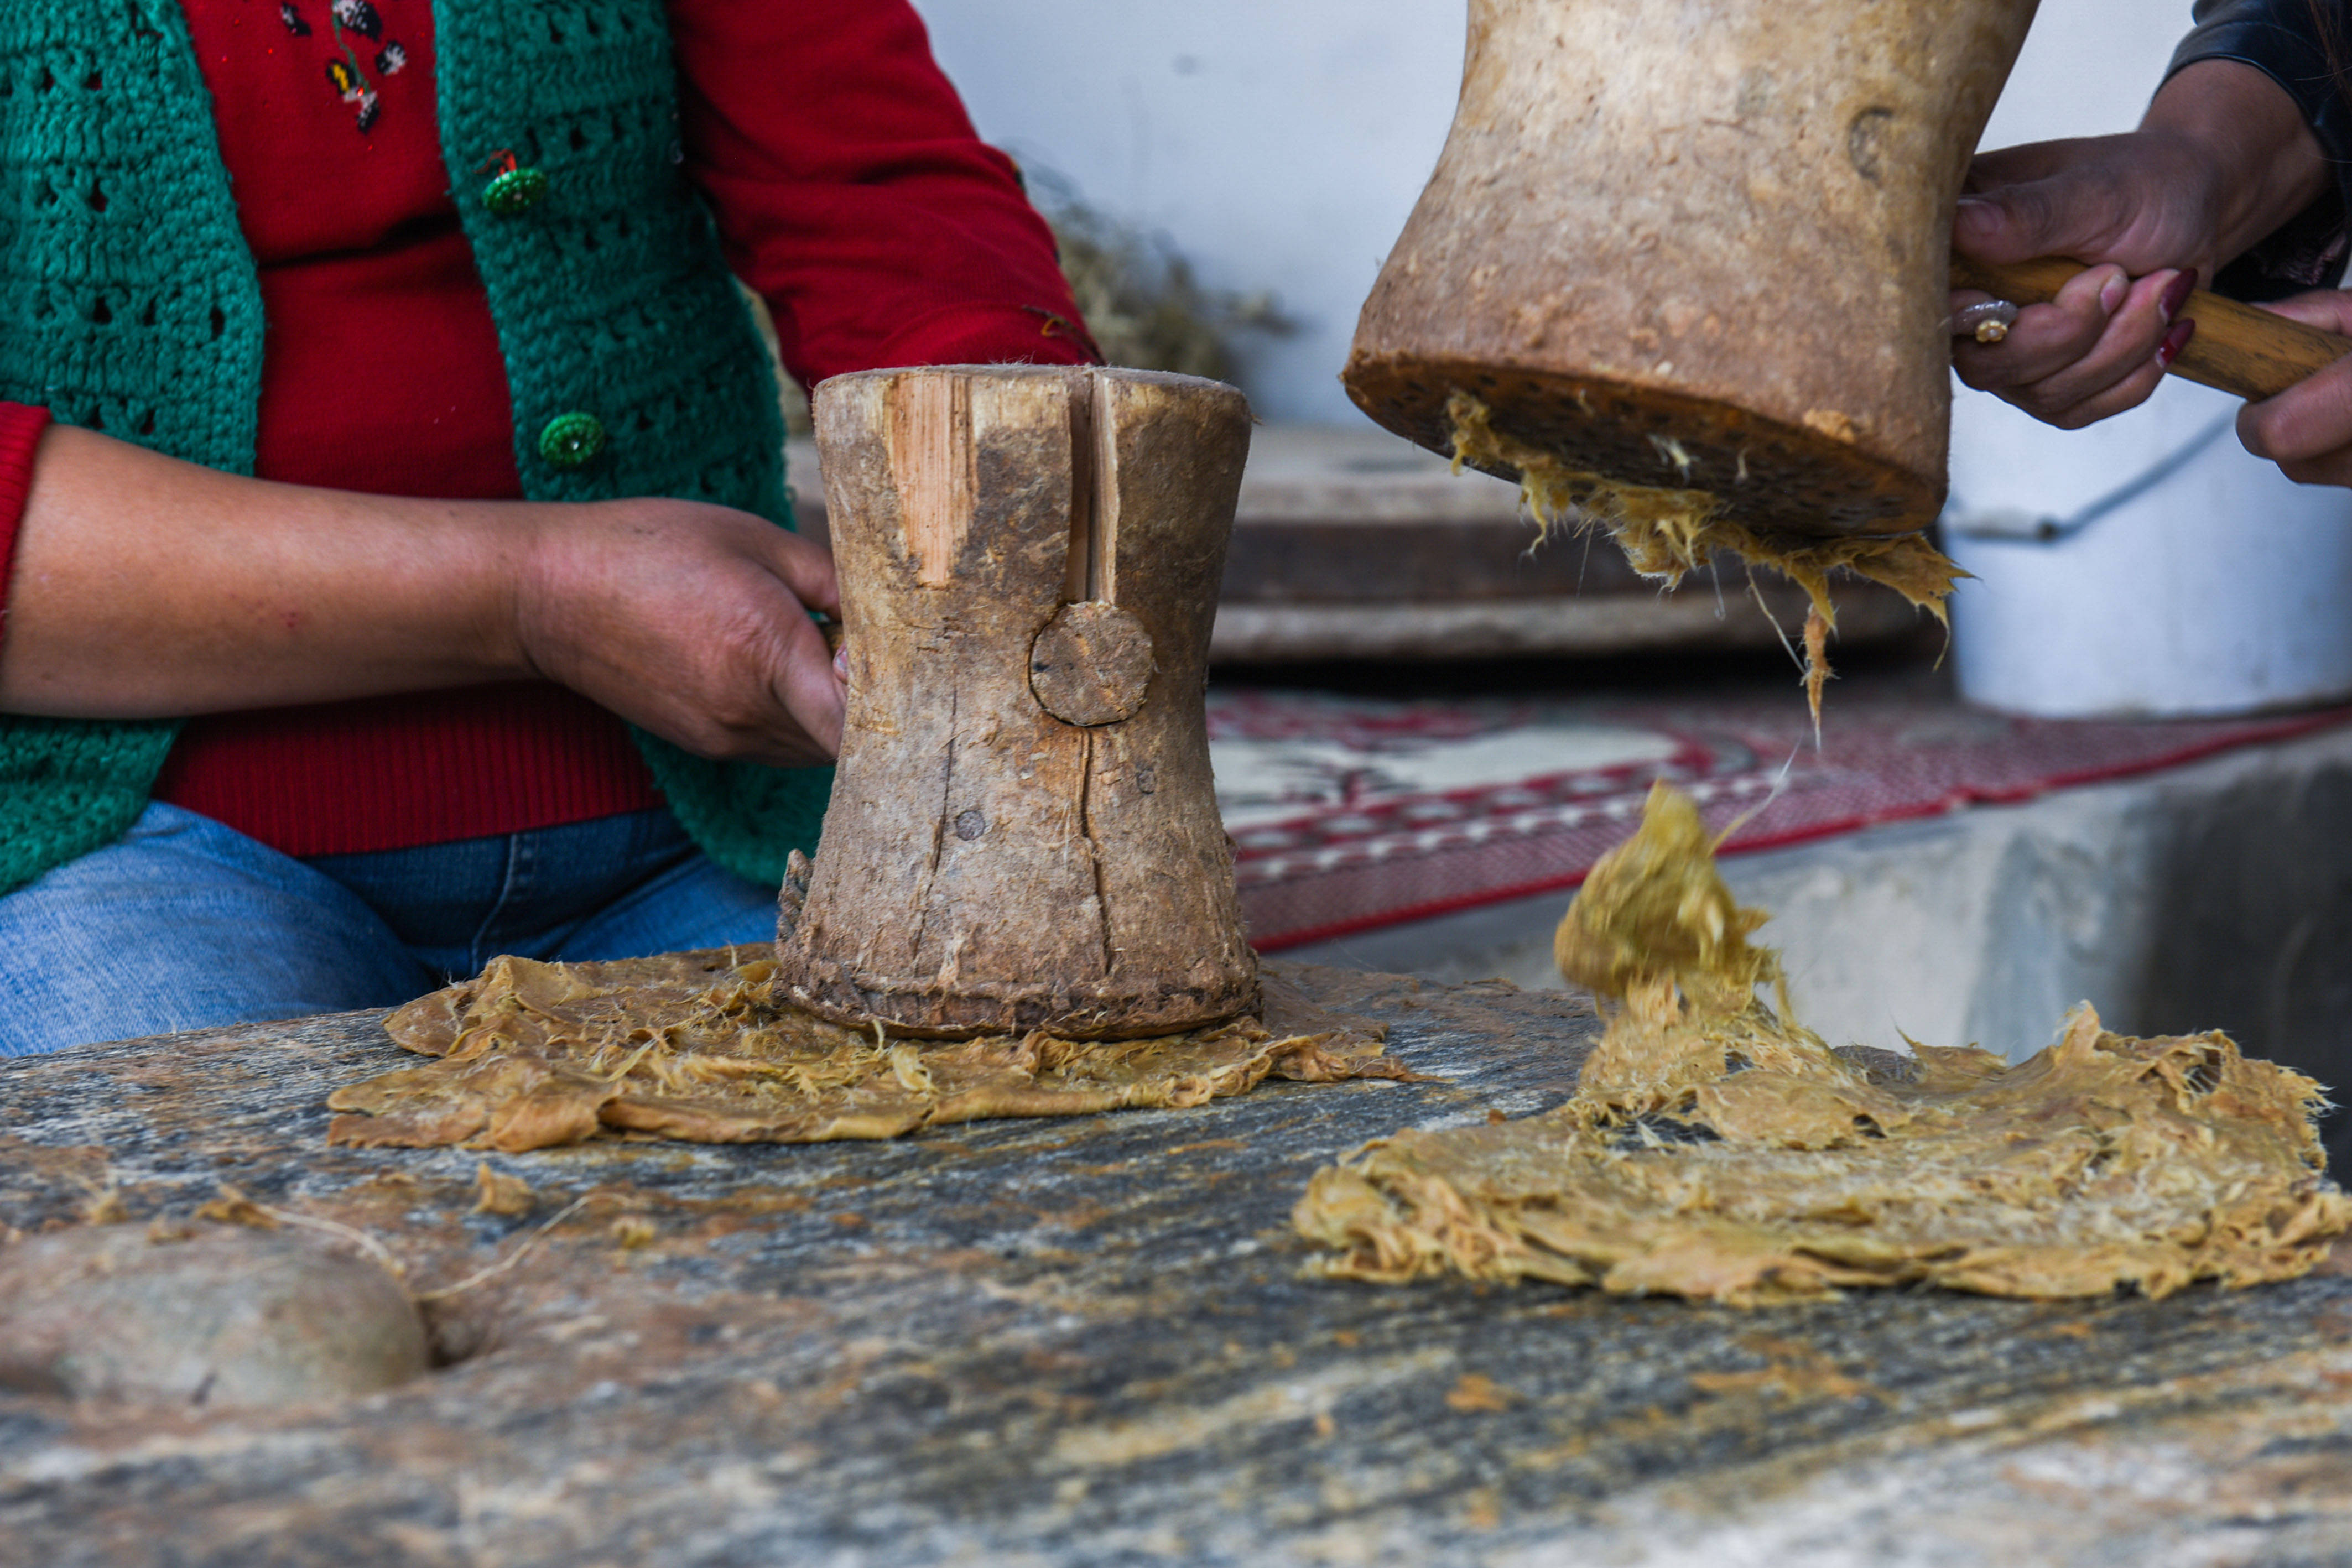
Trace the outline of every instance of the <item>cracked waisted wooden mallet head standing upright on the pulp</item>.
<instances>
[{"instance_id":1,"label":"cracked waisted wooden mallet head standing upright on the pulp","mask_svg":"<svg viewBox=\"0 0 2352 1568\"><path fill-rule=\"evenodd\" d=\"M1249 451L1216 381L931 367L816 388L849 715L779 994L955 1037L1169 1034L1258 999L1209 780Z\"/></svg>"}]
</instances>

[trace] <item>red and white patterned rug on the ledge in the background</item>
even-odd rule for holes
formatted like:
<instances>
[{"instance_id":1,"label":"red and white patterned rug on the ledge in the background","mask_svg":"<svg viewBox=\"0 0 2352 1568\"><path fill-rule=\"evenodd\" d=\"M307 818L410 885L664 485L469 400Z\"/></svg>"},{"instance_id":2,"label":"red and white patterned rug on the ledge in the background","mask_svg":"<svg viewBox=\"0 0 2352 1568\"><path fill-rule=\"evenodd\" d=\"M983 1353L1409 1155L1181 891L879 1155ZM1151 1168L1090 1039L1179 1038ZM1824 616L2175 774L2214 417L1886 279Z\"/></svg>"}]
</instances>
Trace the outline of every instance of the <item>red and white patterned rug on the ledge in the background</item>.
<instances>
[{"instance_id":1,"label":"red and white patterned rug on the ledge in the background","mask_svg":"<svg viewBox=\"0 0 2352 1568\"><path fill-rule=\"evenodd\" d=\"M1263 952L1571 889L1623 839L1651 780L1726 853L2129 778L2352 719L2011 719L1832 689L1823 750L1797 693L1691 703L1381 703L1214 689L1209 750ZM1790 762L1795 757L1795 762Z\"/></svg>"}]
</instances>

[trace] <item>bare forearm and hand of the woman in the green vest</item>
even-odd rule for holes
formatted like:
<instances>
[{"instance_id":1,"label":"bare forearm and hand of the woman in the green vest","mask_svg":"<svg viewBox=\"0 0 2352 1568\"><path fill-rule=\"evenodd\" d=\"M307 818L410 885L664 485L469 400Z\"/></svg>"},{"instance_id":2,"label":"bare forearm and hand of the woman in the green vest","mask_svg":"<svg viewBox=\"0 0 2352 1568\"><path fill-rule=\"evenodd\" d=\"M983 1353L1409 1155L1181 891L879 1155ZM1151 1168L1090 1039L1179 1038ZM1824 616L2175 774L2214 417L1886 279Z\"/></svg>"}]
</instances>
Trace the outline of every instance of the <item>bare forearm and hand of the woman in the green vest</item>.
<instances>
[{"instance_id":1,"label":"bare forearm and hand of the woman in the green vest","mask_svg":"<svg viewBox=\"0 0 2352 1568\"><path fill-rule=\"evenodd\" d=\"M407 501L52 428L0 712L167 719L546 677L703 757L840 743L833 557L699 501Z\"/></svg>"}]
</instances>

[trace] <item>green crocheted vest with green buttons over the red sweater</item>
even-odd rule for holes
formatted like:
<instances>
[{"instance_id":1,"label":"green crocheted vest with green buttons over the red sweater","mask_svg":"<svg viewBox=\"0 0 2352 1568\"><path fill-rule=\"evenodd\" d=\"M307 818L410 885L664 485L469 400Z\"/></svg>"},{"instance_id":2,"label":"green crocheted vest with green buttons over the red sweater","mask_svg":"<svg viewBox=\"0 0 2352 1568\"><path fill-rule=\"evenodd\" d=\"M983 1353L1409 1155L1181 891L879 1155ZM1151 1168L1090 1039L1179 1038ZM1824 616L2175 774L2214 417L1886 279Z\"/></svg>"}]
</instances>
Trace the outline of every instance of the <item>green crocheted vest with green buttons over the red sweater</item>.
<instances>
[{"instance_id":1,"label":"green crocheted vest with green buttons over the red sweater","mask_svg":"<svg viewBox=\"0 0 2352 1568\"><path fill-rule=\"evenodd\" d=\"M442 162L524 494L793 527L774 371L677 172L661 0L433 0L433 26ZM494 212L506 153L546 183ZM261 329L179 0L0 0L0 397L252 473ZM120 837L176 731L0 717L0 893ZM816 844L830 769L713 764L642 731L637 748L720 865L779 884Z\"/></svg>"}]
</instances>

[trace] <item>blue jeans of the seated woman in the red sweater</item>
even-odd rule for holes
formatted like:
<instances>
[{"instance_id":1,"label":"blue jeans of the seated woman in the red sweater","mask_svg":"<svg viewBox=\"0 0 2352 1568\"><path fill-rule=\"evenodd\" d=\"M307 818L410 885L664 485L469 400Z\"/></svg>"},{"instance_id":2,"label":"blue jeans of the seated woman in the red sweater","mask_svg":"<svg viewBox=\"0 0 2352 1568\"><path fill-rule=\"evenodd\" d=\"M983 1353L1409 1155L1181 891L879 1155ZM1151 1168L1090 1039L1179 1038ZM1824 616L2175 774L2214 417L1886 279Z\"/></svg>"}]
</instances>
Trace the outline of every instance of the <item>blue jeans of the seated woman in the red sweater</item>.
<instances>
[{"instance_id":1,"label":"blue jeans of the seated woman in the red sweater","mask_svg":"<svg viewBox=\"0 0 2352 1568\"><path fill-rule=\"evenodd\" d=\"M501 952L628 959L776 940L776 891L668 811L294 860L151 802L0 898L0 1056L395 1006Z\"/></svg>"}]
</instances>

